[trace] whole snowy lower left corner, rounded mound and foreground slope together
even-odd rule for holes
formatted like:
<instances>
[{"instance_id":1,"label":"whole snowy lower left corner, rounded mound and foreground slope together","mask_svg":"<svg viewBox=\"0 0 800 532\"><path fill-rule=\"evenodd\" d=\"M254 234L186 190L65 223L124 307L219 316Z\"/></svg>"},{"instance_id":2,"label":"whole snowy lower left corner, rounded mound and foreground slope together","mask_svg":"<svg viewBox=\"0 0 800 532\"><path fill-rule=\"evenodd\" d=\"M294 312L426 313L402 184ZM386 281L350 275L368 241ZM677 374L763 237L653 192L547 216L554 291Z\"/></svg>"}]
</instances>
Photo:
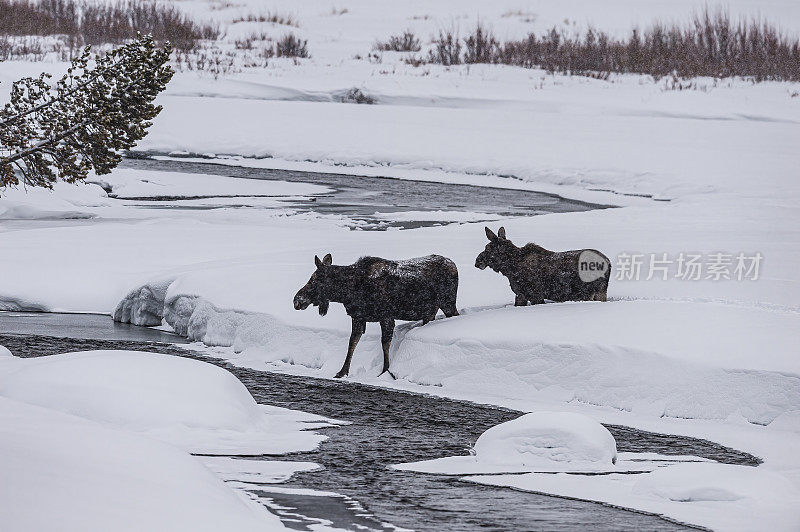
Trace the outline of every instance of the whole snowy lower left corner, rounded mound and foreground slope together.
<instances>
[{"instance_id":1,"label":"whole snowy lower left corner, rounded mound and foreground slope together","mask_svg":"<svg viewBox=\"0 0 800 532\"><path fill-rule=\"evenodd\" d=\"M0 383L0 521L9 531L284 529L223 480L280 482L316 464L189 452L308 451L325 437L307 429L330 426L260 407L227 371L169 355L19 359L2 348Z\"/></svg>"}]
</instances>

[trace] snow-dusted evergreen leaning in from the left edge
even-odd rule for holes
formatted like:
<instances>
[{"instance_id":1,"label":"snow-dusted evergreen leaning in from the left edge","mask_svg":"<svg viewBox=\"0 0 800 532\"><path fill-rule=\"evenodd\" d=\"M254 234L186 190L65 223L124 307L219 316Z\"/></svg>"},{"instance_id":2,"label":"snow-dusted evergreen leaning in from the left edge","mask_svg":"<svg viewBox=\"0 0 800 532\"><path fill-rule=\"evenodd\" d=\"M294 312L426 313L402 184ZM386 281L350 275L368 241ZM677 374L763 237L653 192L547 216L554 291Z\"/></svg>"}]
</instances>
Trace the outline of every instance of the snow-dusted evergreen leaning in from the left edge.
<instances>
[{"instance_id":1,"label":"snow-dusted evergreen leaning in from the left edge","mask_svg":"<svg viewBox=\"0 0 800 532\"><path fill-rule=\"evenodd\" d=\"M54 85L48 74L15 82L0 110L0 187L109 173L161 112L153 100L174 74L170 51L150 36L94 58L87 46Z\"/></svg>"}]
</instances>

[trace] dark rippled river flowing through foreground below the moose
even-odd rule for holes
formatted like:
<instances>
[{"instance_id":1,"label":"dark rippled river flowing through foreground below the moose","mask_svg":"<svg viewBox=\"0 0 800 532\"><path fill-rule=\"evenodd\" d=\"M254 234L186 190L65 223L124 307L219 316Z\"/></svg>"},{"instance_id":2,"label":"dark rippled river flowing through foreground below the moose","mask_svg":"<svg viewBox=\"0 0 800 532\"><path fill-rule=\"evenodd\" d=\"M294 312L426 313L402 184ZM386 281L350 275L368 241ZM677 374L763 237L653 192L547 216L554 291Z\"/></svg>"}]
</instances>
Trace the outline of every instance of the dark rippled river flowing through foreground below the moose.
<instances>
[{"instance_id":1,"label":"dark rippled river flowing through foreground below the moose","mask_svg":"<svg viewBox=\"0 0 800 532\"><path fill-rule=\"evenodd\" d=\"M323 429L320 449L302 455L268 457L313 461L322 470L301 473L280 487L336 492L319 497L252 491L287 526L311 530L320 522L349 530L685 530L657 516L600 504L479 486L457 478L401 472L391 464L466 455L478 436L521 412L412 394L352 382L315 379L237 368L177 345L131 340L130 329L114 332L110 318L83 316L87 325L72 331L74 315L50 316L53 327L27 313L0 313L0 345L15 355L46 356L89 349L147 350L197 358L236 375L256 401L351 422ZM65 321L66 320L66 321ZM66 325L58 326L58 323ZM120 339L118 334L123 335ZM162 334L162 333L158 333ZM168 333L163 333L168 334ZM97 338L97 337L100 338ZM619 451L691 454L720 462L756 465L758 459L718 444L609 425ZM258 459L254 457L253 459Z\"/></svg>"}]
</instances>

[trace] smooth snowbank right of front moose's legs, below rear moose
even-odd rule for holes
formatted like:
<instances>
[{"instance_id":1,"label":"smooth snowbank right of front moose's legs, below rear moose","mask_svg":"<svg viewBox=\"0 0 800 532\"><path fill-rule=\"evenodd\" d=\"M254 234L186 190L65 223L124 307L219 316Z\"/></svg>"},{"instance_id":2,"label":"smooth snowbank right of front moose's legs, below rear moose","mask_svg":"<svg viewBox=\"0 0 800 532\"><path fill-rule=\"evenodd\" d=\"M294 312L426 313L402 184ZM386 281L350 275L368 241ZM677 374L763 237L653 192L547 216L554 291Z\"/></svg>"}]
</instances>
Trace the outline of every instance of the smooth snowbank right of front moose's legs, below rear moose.
<instances>
[{"instance_id":1,"label":"smooth snowbank right of front moose's legs, below rear moose","mask_svg":"<svg viewBox=\"0 0 800 532\"><path fill-rule=\"evenodd\" d=\"M800 408L796 322L664 301L506 308L404 329L392 368L449 389L768 424Z\"/></svg>"}]
</instances>

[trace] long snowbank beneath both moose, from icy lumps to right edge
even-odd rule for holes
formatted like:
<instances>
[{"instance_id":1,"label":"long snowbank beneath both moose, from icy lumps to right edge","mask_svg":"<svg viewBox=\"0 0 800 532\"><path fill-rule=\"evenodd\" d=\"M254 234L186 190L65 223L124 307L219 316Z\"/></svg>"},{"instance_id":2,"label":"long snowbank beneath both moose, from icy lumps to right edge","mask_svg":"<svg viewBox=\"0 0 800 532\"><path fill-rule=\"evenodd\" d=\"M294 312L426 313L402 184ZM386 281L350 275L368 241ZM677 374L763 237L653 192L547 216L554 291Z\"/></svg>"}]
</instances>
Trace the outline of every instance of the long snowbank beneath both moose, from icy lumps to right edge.
<instances>
[{"instance_id":1,"label":"long snowbank beneath both moose, from icy lumps to right edge","mask_svg":"<svg viewBox=\"0 0 800 532\"><path fill-rule=\"evenodd\" d=\"M346 324L296 325L197 296L168 297L165 319L191 340L232 347L223 356L236 364L300 364L329 376L349 334ZM399 325L390 359L398 378L451 392L766 425L800 410L796 323L794 312L682 301L510 307ZM753 357L763 345L772 348ZM377 331L368 330L351 375L377 375L379 353Z\"/></svg>"}]
</instances>

